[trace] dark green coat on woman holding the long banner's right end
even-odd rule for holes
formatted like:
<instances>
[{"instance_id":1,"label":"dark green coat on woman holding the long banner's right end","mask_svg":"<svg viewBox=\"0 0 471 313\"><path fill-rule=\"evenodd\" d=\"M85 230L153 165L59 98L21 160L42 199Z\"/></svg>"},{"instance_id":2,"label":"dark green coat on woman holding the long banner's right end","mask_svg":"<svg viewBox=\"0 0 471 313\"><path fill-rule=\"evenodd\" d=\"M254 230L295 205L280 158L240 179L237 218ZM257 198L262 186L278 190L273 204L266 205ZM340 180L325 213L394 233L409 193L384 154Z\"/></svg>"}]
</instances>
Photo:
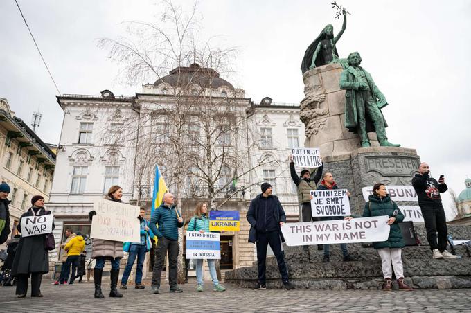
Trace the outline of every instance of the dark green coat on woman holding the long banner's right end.
<instances>
[{"instance_id":1,"label":"dark green coat on woman holding the long banner's right end","mask_svg":"<svg viewBox=\"0 0 471 313\"><path fill-rule=\"evenodd\" d=\"M390 226L388 240L383 242L373 242L373 247L375 249L405 247L405 242L402 239L402 233L398 224L402 222L402 220L404 220L404 215L402 214L396 203L391 200L391 197L389 197L389 195L386 195L386 197L382 199L375 195L370 195L369 200L370 201L366 202L365 204L363 217L381 215L388 215L389 217L394 217L394 211L398 210L396 220Z\"/></svg>"}]
</instances>

